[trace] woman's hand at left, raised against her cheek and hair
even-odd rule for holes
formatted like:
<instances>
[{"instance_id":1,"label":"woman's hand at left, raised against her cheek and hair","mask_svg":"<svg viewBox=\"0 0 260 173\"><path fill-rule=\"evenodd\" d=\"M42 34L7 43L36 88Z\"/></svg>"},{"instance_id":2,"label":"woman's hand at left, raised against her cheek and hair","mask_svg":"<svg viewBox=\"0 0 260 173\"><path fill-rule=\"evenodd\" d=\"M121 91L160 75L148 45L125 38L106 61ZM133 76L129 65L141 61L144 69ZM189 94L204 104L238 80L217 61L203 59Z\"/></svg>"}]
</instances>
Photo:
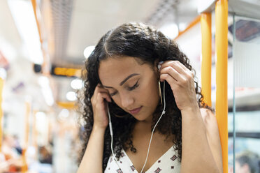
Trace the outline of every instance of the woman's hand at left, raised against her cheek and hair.
<instances>
[{"instance_id":1,"label":"woman's hand at left, raised against her cheek and hair","mask_svg":"<svg viewBox=\"0 0 260 173\"><path fill-rule=\"evenodd\" d=\"M96 85L96 89L91 98L94 126L96 128L106 129L108 126L108 104L111 102L110 95L107 89L104 89L101 84Z\"/></svg>"}]
</instances>

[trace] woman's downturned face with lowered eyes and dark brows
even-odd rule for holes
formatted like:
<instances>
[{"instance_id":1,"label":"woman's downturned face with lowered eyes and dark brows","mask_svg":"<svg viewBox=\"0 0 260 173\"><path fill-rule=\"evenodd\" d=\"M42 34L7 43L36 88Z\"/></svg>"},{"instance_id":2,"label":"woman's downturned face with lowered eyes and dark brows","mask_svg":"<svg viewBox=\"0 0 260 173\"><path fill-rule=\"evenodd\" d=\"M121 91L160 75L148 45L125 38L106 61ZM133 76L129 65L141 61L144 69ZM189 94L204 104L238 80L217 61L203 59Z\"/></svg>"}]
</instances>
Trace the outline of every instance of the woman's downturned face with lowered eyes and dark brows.
<instances>
[{"instance_id":1,"label":"woman's downturned face with lowered eyes and dark brows","mask_svg":"<svg viewBox=\"0 0 260 173\"><path fill-rule=\"evenodd\" d=\"M138 60L140 61L140 60ZM157 66L140 65L133 57L101 61L99 78L111 98L138 121L151 121L159 102Z\"/></svg>"}]
</instances>

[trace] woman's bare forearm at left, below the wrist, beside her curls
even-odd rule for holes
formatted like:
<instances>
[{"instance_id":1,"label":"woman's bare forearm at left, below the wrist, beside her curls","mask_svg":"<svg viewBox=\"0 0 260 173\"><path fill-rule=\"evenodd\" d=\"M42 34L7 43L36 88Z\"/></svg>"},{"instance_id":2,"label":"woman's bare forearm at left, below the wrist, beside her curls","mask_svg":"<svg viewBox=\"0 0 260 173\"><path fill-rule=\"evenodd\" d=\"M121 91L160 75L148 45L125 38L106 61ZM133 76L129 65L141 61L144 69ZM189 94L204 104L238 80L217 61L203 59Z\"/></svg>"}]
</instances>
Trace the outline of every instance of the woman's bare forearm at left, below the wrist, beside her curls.
<instances>
[{"instance_id":1,"label":"woman's bare forearm at left, below the wrist, beside her curls","mask_svg":"<svg viewBox=\"0 0 260 173\"><path fill-rule=\"evenodd\" d=\"M81 160L77 173L85 172L103 172L103 144L105 130L101 128L93 128L89 137L87 149Z\"/></svg>"}]
</instances>

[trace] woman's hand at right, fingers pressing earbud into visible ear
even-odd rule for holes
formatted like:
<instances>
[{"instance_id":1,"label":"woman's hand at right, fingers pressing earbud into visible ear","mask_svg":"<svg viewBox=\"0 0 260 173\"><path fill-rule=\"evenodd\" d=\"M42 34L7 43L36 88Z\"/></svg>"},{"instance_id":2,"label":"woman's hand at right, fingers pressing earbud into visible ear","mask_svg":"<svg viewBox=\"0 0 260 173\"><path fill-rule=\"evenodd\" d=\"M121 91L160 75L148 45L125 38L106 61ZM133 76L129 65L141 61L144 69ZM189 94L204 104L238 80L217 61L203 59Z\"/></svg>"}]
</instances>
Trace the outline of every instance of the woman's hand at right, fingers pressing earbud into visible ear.
<instances>
[{"instance_id":1,"label":"woman's hand at right, fingers pressing earbud into visible ear","mask_svg":"<svg viewBox=\"0 0 260 173\"><path fill-rule=\"evenodd\" d=\"M159 70L160 80L171 86L179 110L198 107L194 87L194 73L180 61L164 61Z\"/></svg>"}]
</instances>

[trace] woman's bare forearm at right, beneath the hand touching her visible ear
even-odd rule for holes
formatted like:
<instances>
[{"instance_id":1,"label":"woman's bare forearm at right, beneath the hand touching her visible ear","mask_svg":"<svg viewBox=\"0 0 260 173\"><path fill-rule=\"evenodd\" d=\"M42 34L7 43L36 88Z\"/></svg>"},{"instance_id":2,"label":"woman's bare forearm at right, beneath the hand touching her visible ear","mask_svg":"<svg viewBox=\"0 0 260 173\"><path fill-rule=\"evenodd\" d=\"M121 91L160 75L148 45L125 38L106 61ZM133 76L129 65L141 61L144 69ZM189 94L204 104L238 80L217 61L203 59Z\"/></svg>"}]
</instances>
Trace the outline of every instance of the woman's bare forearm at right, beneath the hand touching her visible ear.
<instances>
[{"instance_id":1,"label":"woman's bare forearm at right, beneath the hand touching her visible ear","mask_svg":"<svg viewBox=\"0 0 260 173\"><path fill-rule=\"evenodd\" d=\"M198 107L182 110L182 173L219 172Z\"/></svg>"}]
</instances>

